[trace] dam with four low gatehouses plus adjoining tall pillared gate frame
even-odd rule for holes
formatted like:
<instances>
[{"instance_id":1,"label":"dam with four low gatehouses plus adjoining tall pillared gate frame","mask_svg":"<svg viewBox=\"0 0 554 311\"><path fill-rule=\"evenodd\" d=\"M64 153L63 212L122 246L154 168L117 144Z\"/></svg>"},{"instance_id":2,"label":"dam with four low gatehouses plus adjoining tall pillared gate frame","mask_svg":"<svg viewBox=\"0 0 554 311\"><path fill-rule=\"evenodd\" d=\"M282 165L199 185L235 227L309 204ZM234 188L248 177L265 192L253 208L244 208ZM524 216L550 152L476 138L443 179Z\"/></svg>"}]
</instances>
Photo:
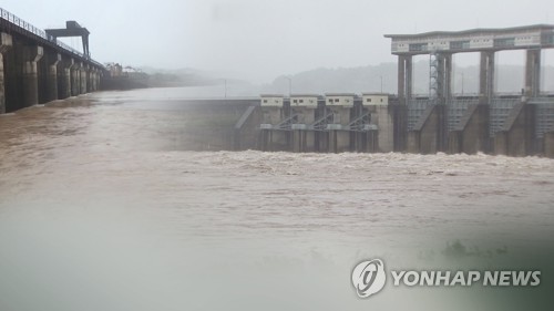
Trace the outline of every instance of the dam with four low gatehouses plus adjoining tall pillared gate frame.
<instances>
[{"instance_id":1,"label":"dam with four low gatehouses plus adjoining tall pillared gate frame","mask_svg":"<svg viewBox=\"0 0 554 311\"><path fill-rule=\"evenodd\" d=\"M554 157L554 94L541 90L541 51L554 48L554 25L386 38L398 55L398 96L261 95L257 147ZM519 95L495 92L495 53L505 50L526 53L525 85ZM466 52L480 53L479 94L473 96L452 92L452 56ZM412 59L420 54L430 56L428 96L412 92Z\"/></svg>"}]
</instances>

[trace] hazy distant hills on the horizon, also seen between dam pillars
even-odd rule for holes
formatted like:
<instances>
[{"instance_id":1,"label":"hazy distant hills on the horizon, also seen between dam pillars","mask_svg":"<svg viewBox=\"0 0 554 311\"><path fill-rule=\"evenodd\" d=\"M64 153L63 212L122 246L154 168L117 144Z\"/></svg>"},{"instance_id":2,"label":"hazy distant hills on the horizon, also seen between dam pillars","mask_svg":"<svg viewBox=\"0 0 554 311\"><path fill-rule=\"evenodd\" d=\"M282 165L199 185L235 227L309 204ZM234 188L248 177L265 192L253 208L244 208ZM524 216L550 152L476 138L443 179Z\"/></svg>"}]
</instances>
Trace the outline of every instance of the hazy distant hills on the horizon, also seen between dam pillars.
<instances>
[{"instance_id":1,"label":"hazy distant hills on the horizon, also seen between dam pillars","mask_svg":"<svg viewBox=\"0 0 554 311\"><path fill-rule=\"evenodd\" d=\"M291 75L281 75L268 84L254 84L247 81L224 77L224 74L195 69L157 70L141 68L150 74L151 86L218 86L214 95L225 91L229 96L258 96L261 93L287 95L289 77L293 93L362 93L382 92L397 94L397 63L382 63L359 68L316 69ZM496 91L519 93L523 87L523 66L497 65ZM543 89L554 92L554 66L543 68ZM429 62L420 61L413 65L414 94L429 94ZM381 84L382 81L382 84ZM476 94L479 87L479 66L455 66L453 70L454 93Z\"/></svg>"}]
</instances>

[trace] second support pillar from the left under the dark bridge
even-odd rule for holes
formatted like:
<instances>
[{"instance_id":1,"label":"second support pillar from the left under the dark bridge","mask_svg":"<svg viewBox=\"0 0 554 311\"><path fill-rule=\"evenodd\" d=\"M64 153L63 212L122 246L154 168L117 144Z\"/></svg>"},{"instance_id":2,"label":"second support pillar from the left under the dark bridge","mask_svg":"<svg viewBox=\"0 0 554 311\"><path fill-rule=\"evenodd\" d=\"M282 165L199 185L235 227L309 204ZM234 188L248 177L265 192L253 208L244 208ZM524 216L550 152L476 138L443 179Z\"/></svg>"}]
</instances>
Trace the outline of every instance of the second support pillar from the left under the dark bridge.
<instances>
[{"instance_id":1,"label":"second support pillar from the left under the dark bridge","mask_svg":"<svg viewBox=\"0 0 554 311\"><path fill-rule=\"evenodd\" d=\"M39 104L39 71L37 62L44 55L40 45L23 46L23 107Z\"/></svg>"}]
</instances>

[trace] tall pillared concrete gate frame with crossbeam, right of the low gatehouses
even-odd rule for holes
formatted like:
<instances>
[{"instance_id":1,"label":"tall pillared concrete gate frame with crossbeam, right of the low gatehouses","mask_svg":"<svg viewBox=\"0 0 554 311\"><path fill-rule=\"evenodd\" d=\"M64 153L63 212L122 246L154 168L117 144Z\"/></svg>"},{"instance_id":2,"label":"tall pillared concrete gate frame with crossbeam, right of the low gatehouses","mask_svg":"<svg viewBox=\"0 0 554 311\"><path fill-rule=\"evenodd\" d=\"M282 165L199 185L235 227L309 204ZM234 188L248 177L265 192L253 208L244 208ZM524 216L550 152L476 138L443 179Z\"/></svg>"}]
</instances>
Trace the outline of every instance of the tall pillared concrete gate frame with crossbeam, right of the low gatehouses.
<instances>
[{"instance_id":1,"label":"tall pillared concrete gate frame with crossbeam, right of the low gatehouses","mask_svg":"<svg viewBox=\"0 0 554 311\"><path fill-rule=\"evenodd\" d=\"M552 156L547 137L554 131L554 96L541 91L541 51L554 48L554 25L475 29L458 32L388 34L398 55L398 100L406 108L402 148L411 153L476 152ZM495 54L526 53L520 96L496 94ZM452 55L480 53L479 96L452 94ZM429 97L412 93L412 59L430 56Z\"/></svg>"}]
</instances>

